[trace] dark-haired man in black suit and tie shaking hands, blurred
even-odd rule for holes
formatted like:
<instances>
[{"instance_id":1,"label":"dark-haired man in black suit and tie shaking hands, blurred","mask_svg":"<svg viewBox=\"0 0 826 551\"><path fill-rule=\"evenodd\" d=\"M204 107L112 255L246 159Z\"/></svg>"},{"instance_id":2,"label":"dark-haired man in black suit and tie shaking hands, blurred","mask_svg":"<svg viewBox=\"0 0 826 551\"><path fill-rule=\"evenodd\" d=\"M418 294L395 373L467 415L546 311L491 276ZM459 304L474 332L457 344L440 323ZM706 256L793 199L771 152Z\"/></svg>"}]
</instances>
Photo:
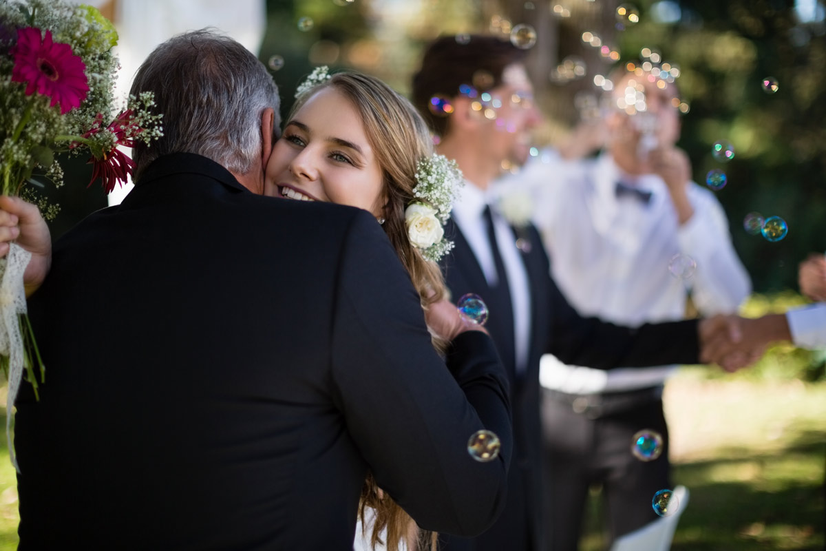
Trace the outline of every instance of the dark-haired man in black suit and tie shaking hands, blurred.
<instances>
[{"instance_id":1,"label":"dark-haired man in black suit and tie shaking hands, blurred","mask_svg":"<svg viewBox=\"0 0 826 551\"><path fill-rule=\"evenodd\" d=\"M439 153L456 159L467 179L445 230L456 247L444 260L444 276L454 297L475 292L490 308L487 328L510 375L515 437L505 511L475 539L443 538L444 551L546 549L542 354L601 369L698 362L696 320L631 329L580 316L550 277L534 226L515 230L490 204L490 183L504 167L525 162L529 131L539 123L524 59L525 50L507 40L443 36L427 48L413 78L413 101L439 135ZM439 109L445 99L449 114Z\"/></svg>"}]
</instances>

